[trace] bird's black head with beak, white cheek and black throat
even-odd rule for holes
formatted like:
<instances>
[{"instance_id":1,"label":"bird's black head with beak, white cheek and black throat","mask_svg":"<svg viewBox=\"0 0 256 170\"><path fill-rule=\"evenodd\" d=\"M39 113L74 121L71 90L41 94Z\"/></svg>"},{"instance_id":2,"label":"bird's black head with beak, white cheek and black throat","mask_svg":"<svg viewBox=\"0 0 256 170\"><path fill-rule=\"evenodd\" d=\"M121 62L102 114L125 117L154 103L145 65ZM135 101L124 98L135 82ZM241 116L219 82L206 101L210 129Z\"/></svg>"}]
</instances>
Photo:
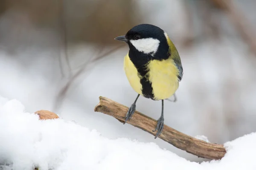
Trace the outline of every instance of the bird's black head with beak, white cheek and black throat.
<instances>
[{"instance_id":1,"label":"bird's black head with beak, white cheek and black throat","mask_svg":"<svg viewBox=\"0 0 256 170\"><path fill-rule=\"evenodd\" d=\"M145 64L148 59L168 59L171 55L165 31L151 24L134 26L115 40L125 41L128 44L129 57L133 62L143 61Z\"/></svg>"}]
</instances>

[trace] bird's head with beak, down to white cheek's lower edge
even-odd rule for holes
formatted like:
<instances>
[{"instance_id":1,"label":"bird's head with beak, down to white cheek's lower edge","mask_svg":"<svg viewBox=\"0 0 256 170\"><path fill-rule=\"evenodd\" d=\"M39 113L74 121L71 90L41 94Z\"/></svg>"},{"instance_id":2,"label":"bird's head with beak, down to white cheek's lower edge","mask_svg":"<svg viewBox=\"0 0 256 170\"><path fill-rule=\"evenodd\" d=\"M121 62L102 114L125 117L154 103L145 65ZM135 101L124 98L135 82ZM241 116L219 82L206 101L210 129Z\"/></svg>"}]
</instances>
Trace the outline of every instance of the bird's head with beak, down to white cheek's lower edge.
<instances>
[{"instance_id":1,"label":"bird's head with beak, down to white cheek's lower edge","mask_svg":"<svg viewBox=\"0 0 256 170\"><path fill-rule=\"evenodd\" d=\"M168 35L161 28L151 24L140 24L131 28L125 35L116 37L115 40L128 43L130 50L134 49L144 54L154 54L157 51L168 51Z\"/></svg>"}]
</instances>

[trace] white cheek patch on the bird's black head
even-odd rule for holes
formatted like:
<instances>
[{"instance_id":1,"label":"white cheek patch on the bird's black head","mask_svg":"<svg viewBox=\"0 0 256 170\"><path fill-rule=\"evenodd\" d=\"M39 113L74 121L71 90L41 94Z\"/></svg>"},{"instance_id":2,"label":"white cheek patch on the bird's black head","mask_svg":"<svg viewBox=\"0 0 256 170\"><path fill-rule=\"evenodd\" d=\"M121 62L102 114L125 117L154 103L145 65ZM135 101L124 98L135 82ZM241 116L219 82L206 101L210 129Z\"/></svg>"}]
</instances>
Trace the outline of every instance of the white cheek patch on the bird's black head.
<instances>
[{"instance_id":1,"label":"white cheek patch on the bird's black head","mask_svg":"<svg viewBox=\"0 0 256 170\"><path fill-rule=\"evenodd\" d=\"M131 44L140 52L145 54L154 54L157 52L160 41L154 38L142 38L139 40L130 40Z\"/></svg>"}]
</instances>

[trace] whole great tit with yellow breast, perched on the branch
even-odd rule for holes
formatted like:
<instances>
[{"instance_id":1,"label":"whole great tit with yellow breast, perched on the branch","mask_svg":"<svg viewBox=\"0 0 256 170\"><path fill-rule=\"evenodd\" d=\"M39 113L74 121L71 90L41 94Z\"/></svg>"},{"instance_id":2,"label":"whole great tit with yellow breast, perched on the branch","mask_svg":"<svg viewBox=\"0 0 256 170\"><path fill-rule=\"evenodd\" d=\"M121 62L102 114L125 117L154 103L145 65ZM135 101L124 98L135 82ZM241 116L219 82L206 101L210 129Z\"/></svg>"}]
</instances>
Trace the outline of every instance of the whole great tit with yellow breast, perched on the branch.
<instances>
[{"instance_id":1,"label":"whole great tit with yellow breast, perched on the branch","mask_svg":"<svg viewBox=\"0 0 256 170\"><path fill-rule=\"evenodd\" d=\"M178 51L165 31L150 24L134 26L115 40L124 41L129 46L124 69L131 87L138 93L128 109L125 122L133 115L140 95L152 100L162 100L161 116L153 130L157 130L156 138L160 136L164 125L163 101L175 94L183 77Z\"/></svg>"}]
</instances>

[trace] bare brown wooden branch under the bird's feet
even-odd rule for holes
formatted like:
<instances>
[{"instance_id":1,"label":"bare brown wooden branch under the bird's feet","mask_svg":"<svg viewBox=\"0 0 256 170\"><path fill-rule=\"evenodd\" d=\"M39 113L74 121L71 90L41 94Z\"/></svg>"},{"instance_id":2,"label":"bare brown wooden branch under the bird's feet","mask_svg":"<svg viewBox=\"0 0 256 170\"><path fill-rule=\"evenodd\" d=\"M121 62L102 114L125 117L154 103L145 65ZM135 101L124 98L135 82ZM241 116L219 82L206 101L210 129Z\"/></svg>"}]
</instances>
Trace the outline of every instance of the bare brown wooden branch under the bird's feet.
<instances>
[{"instance_id":1,"label":"bare brown wooden branch under the bird's feet","mask_svg":"<svg viewBox=\"0 0 256 170\"><path fill-rule=\"evenodd\" d=\"M113 116L120 122L124 122L124 117L128 111L128 107L114 102L106 97L100 96L99 104L96 105L94 111L105 113ZM154 136L156 135L156 132L153 132L152 130L154 130L157 121L138 111L135 111L131 120L127 123L151 133ZM164 125L163 131L159 138L179 149L185 150L186 152L192 153L193 155L201 158L221 159L226 153L223 144L213 144L193 138L167 125Z\"/></svg>"}]
</instances>

